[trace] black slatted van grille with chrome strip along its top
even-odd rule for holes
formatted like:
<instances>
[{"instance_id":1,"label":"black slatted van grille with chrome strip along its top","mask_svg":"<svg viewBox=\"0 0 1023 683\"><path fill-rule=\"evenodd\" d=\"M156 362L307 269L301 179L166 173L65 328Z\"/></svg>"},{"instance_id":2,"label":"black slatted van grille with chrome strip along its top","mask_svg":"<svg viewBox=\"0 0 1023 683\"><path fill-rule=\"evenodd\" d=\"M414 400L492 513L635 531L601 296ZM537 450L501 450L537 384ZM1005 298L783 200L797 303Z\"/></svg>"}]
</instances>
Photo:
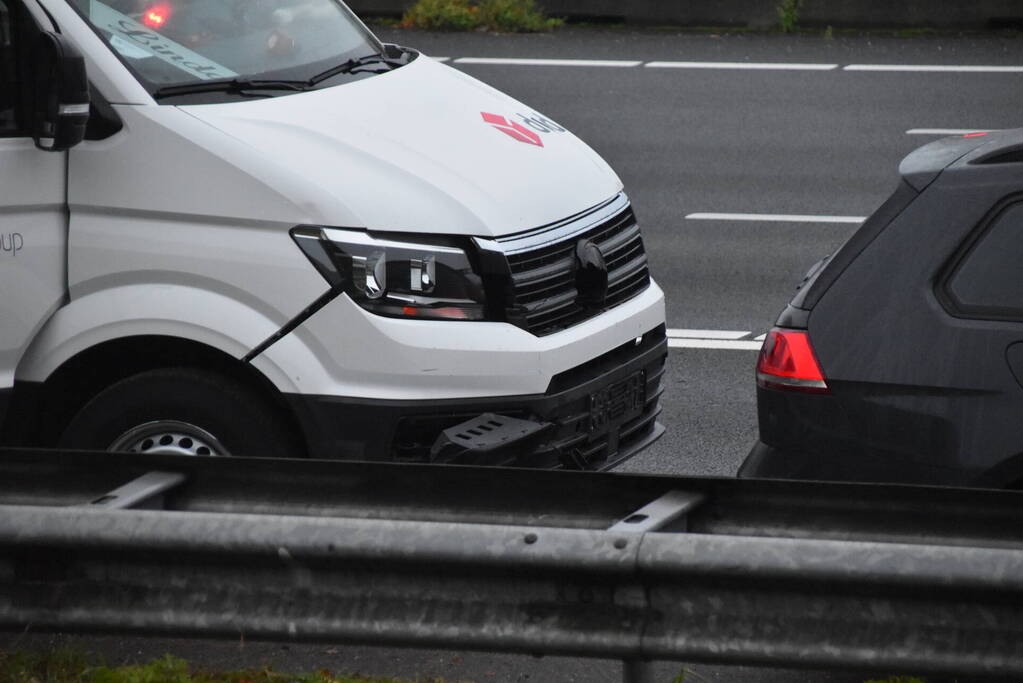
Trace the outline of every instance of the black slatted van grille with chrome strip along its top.
<instances>
[{"instance_id":1,"label":"black slatted van grille with chrome strip along its top","mask_svg":"<svg viewBox=\"0 0 1023 683\"><path fill-rule=\"evenodd\" d=\"M604 256L608 294L601 307L579 303L576 244L589 239ZM545 229L497 240L511 275L508 321L536 335L550 334L632 299L650 284L639 226L621 194Z\"/></svg>"}]
</instances>

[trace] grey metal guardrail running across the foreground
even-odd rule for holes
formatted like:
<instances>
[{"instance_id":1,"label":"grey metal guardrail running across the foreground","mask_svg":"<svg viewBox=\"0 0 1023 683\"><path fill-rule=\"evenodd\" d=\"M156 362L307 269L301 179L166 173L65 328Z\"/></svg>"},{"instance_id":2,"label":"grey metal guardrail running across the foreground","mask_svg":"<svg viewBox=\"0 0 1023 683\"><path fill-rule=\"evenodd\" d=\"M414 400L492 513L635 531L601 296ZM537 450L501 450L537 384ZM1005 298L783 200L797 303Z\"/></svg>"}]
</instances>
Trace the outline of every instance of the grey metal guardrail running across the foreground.
<instances>
[{"instance_id":1,"label":"grey metal guardrail running across the foreground","mask_svg":"<svg viewBox=\"0 0 1023 683\"><path fill-rule=\"evenodd\" d=\"M1021 500L8 451L0 627L1020 676Z\"/></svg>"}]
</instances>

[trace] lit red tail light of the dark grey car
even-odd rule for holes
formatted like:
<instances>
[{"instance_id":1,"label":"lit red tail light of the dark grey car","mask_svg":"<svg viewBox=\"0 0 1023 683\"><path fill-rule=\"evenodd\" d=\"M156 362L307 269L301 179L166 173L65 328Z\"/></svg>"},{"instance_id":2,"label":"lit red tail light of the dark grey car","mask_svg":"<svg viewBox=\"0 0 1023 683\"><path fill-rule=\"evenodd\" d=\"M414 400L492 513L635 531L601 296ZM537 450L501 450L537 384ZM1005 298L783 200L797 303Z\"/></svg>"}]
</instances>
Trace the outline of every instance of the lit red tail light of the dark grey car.
<instances>
[{"instance_id":1,"label":"lit red tail light of the dark grey car","mask_svg":"<svg viewBox=\"0 0 1023 683\"><path fill-rule=\"evenodd\" d=\"M788 392L831 394L810 335L798 329L774 328L767 332L757 359L757 384Z\"/></svg>"}]
</instances>

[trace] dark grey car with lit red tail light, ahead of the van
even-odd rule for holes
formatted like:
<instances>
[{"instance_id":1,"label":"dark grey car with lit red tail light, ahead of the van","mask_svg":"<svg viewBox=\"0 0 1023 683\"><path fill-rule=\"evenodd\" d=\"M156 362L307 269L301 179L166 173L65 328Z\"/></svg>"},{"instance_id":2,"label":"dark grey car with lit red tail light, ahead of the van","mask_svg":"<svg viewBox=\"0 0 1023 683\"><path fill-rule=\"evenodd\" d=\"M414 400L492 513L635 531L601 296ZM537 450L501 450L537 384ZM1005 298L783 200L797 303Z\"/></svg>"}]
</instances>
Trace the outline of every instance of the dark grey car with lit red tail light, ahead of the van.
<instances>
[{"instance_id":1,"label":"dark grey car with lit red tail light, ahead of the van","mask_svg":"<svg viewBox=\"0 0 1023 683\"><path fill-rule=\"evenodd\" d=\"M899 173L768 334L741 476L1023 483L1023 129Z\"/></svg>"}]
</instances>

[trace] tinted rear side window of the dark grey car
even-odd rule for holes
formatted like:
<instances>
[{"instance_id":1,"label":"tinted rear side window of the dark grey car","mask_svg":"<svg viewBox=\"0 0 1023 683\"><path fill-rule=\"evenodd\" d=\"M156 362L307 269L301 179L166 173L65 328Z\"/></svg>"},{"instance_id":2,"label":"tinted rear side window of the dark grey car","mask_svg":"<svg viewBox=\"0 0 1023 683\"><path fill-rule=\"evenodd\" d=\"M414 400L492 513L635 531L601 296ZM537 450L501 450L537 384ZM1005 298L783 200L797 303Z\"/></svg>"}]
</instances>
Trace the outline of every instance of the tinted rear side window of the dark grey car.
<instances>
[{"instance_id":1,"label":"tinted rear side window of the dark grey car","mask_svg":"<svg viewBox=\"0 0 1023 683\"><path fill-rule=\"evenodd\" d=\"M998 214L952 272L947 291L968 315L1023 319L1023 203Z\"/></svg>"}]
</instances>

